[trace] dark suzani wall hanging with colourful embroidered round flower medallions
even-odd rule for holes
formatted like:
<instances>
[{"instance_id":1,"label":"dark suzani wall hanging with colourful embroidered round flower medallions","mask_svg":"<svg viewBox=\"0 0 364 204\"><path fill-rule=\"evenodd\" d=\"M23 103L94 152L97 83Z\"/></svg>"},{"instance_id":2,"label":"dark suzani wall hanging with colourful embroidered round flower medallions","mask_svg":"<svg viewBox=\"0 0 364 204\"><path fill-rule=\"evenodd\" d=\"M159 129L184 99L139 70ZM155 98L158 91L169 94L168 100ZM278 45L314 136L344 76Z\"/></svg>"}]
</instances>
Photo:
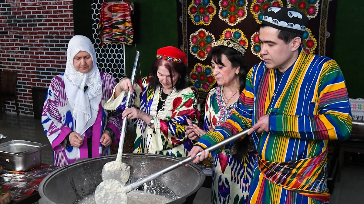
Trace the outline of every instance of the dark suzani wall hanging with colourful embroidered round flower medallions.
<instances>
[{"instance_id":1,"label":"dark suzani wall hanging with colourful embroidered round flower medallions","mask_svg":"<svg viewBox=\"0 0 364 204\"><path fill-rule=\"evenodd\" d=\"M332 57L335 21L328 19L336 17L337 0L177 0L178 45L187 54L187 66L194 69L191 82L199 80L202 101L216 85L208 83L204 74L198 75L211 65L206 61L211 45L226 29L239 29L246 42L246 65L251 68L259 63L262 56L257 28L271 5L295 8L307 15L310 20L302 41L305 52Z\"/></svg>"}]
</instances>

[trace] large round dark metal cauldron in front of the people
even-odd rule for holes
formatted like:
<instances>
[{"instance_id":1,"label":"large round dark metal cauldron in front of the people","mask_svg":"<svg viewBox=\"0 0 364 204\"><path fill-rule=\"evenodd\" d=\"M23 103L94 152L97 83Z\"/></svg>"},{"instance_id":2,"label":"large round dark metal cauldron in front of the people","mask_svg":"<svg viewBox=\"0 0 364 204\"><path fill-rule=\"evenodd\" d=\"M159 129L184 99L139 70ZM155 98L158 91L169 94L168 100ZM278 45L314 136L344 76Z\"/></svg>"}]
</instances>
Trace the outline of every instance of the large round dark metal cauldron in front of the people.
<instances>
[{"instance_id":1,"label":"large round dark metal cauldron in front of the people","mask_svg":"<svg viewBox=\"0 0 364 204\"><path fill-rule=\"evenodd\" d=\"M55 170L39 186L39 204L72 204L74 201L93 193L102 182L101 171L107 162L115 161L116 155L103 156L75 162ZM171 156L155 154L124 154L123 162L130 166L130 178L138 179L153 174L178 162ZM205 175L195 165L179 167L155 179L179 199L171 203L192 203L197 190L202 186Z\"/></svg>"}]
</instances>

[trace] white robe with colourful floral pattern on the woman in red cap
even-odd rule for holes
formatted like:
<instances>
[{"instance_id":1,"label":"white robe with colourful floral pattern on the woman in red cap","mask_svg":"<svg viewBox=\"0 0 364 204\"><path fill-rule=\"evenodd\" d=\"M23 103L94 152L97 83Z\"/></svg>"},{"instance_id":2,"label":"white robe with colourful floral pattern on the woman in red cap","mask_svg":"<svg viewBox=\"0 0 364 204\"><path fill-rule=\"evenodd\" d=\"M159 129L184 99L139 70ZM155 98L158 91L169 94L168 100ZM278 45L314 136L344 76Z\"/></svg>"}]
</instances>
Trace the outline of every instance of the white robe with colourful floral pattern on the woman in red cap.
<instances>
[{"instance_id":1,"label":"white robe with colourful floral pattern on the woman in red cap","mask_svg":"<svg viewBox=\"0 0 364 204\"><path fill-rule=\"evenodd\" d=\"M166 98L161 110L157 110L161 87L157 86L154 89L149 87L149 83L150 76L136 82L131 106L153 116L154 128L150 128L146 122L138 119L134 153L186 157L193 147L192 141L185 135L187 119L197 124L200 117L197 90L194 87L187 87L181 91L174 89ZM126 96L125 91L117 98L112 95L104 108L122 113Z\"/></svg>"}]
</instances>

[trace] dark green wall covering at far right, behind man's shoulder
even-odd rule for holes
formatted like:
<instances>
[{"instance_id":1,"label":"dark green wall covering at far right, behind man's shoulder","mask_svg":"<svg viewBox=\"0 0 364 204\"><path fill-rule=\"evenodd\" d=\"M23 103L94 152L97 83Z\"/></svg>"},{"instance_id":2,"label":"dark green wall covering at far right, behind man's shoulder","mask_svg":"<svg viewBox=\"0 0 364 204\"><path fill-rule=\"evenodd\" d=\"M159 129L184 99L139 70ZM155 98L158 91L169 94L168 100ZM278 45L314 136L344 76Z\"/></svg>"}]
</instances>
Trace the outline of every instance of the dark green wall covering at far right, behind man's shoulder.
<instances>
[{"instance_id":1,"label":"dark green wall covering at far right, behind man's shoulder","mask_svg":"<svg viewBox=\"0 0 364 204\"><path fill-rule=\"evenodd\" d=\"M353 6L355 5L355 6ZM362 0L339 0L336 13L334 60L339 64L347 85L349 98L364 98L364 19Z\"/></svg>"}]
</instances>

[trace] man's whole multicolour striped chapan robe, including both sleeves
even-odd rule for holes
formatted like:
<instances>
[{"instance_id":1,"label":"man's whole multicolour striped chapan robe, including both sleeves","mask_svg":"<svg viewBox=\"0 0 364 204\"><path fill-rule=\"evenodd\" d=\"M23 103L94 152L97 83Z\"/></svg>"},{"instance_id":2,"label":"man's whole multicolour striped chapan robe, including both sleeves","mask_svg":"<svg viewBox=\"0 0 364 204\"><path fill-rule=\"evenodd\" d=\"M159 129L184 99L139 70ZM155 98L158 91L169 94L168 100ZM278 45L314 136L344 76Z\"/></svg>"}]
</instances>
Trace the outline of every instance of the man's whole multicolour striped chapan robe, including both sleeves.
<instances>
[{"instance_id":1,"label":"man's whole multicolour striped chapan robe, including both sleeves","mask_svg":"<svg viewBox=\"0 0 364 204\"><path fill-rule=\"evenodd\" d=\"M277 85L275 74L276 71L267 69L264 62L254 65L232 117L214 132L203 135L197 144L210 146L270 114L270 131L252 133L259 158L254 164L250 203L327 203L325 152L328 139L345 140L352 128L343 74L334 60L306 54L302 49L295 64L282 74ZM211 152L211 155L218 152ZM314 159L310 158L320 156L323 158L312 168L301 169L303 175L319 172L315 180L320 182L297 188L307 191L289 189L291 182L287 178L291 178L292 172L281 178L284 182L268 180L271 178L269 171L262 173L257 162L266 161L266 165L274 166L305 159L312 162ZM300 170L299 166L294 168L296 170ZM323 196L318 200L316 195Z\"/></svg>"}]
</instances>

